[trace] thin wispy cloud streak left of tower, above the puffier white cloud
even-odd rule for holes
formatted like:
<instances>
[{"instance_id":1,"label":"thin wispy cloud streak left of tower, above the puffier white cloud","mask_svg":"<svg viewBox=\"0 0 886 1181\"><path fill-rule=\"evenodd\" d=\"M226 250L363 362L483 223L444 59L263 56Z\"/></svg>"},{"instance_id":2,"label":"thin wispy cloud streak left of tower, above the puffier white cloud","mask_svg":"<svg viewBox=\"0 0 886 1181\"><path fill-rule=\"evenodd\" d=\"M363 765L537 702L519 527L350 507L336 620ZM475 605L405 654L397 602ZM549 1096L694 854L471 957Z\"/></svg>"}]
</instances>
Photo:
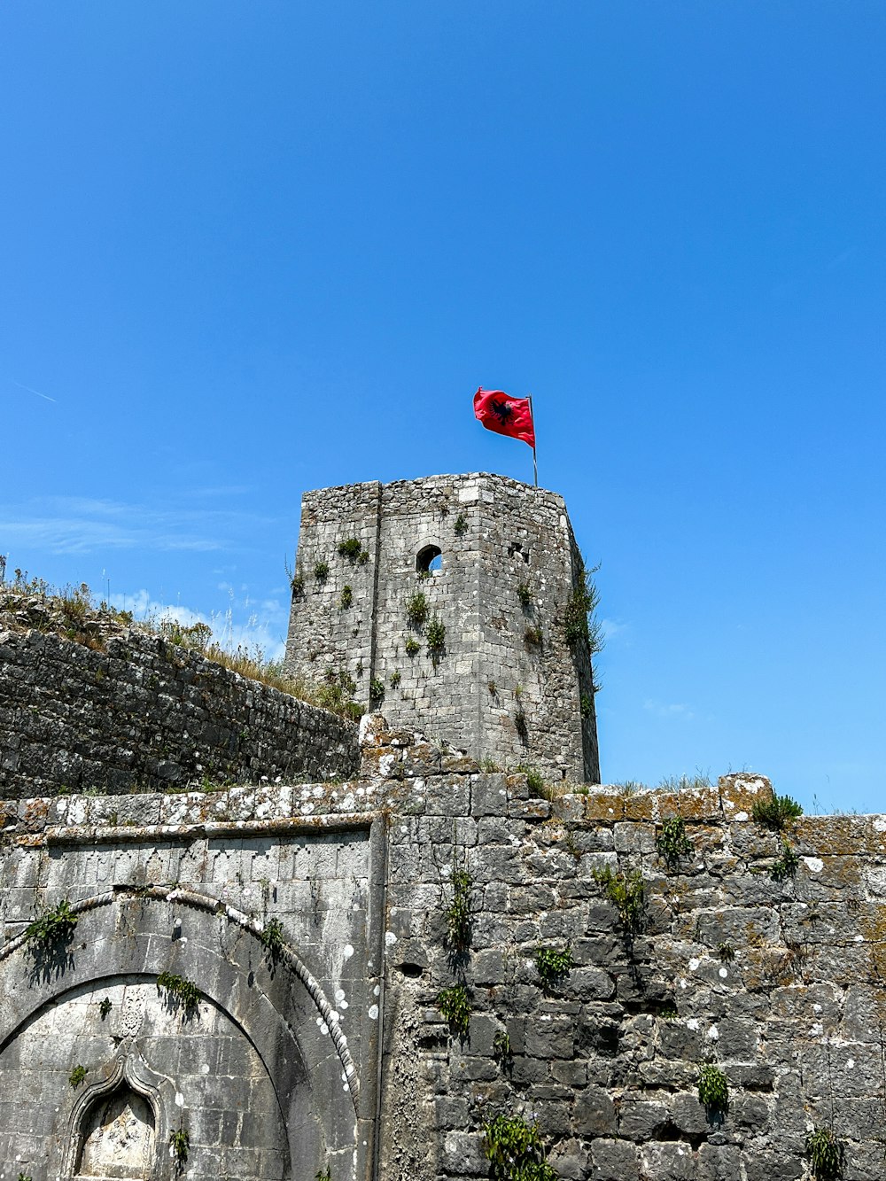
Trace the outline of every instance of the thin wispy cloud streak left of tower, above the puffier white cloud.
<instances>
[{"instance_id":1,"label":"thin wispy cloud streak left of tower, above the puffier white cloud","mask_svg":"<svg viewBox=\"0 0 886 1181\"><path fill-rule=\"evenodd\" d=\"M106 549L220 550L232 533L248 533L265 518L217 509L148 508L82 496L45 497L0 509L5 543L52 554Z\"/></svg>"}]
</instances>

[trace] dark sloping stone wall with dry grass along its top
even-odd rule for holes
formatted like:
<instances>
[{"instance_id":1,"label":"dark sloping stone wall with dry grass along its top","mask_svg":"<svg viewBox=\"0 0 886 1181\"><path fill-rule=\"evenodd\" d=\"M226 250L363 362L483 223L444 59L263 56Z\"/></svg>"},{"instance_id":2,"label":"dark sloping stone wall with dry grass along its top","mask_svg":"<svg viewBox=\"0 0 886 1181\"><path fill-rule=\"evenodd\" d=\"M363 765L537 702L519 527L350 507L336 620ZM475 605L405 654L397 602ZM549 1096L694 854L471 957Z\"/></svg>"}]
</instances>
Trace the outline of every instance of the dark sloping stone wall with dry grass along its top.
<instances>
[{"instance_id":1,"label":"dark sloping stone wall with dry grass along its top","mask_svg":"<svg viewBox=\"0 0 886 1181\"><path fill-rule=\"evenodd\" d=\"M0 631L2 795L344 778L358 758L351 722L158 637Z\"/></svg>"}]
</instances>

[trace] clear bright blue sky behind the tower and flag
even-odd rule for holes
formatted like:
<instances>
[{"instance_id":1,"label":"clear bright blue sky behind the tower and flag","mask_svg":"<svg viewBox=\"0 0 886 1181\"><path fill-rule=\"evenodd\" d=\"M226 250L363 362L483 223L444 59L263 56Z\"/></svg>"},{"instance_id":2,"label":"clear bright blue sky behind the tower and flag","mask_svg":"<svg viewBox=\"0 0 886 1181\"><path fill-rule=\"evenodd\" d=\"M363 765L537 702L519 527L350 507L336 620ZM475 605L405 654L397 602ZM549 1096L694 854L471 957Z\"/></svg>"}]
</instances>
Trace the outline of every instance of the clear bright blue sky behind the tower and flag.
<instances>
[{"instance_id":1,"label":"clear bright blue sky behind the tower and flag","mask_svg":"<svg viewBox=\"0 0 886 1181\"><path fill-rule=\"evenodd\" d=\"M470 399L532 392L604 777L886 810L885 50L880 0L6 0L0 554L273 652L301 492L530 479Z\"/></svg>"}]
</instances>

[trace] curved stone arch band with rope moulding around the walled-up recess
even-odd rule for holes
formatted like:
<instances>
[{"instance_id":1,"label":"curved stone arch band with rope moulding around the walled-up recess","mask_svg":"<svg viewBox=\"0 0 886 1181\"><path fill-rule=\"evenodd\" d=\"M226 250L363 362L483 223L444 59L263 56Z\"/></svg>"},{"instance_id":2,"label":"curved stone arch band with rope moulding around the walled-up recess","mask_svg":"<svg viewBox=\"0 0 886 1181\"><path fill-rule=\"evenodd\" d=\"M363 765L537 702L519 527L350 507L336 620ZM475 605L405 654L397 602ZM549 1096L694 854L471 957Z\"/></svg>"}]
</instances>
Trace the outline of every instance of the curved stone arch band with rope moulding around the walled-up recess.
<instances>
[{"instance_id":1,"label":"curved stone arch band with rope moulding around the walled-up recess","mask_svg":"<svg viewBox=\"0 0 886 1181\"><path fill-rule=\"evenodd\" d=\"M198 980L207 1003L254 1048L274 1090L291 1164L304 1172L315 1161L307 1174L313 1175L333 1160L337 1176L359 1172L357 1075L347 1039L295 952L286 948L274 971L258 939L260 924L194 892L117 889L72 909L79 919L76 947L70 964L50 979L34 981L28 973L22 937L0 948L12 1000L0 1016L0 1053L40 1010L73 988L133 976L156 980L171 970ZM67 1176L76 1175L72 1168L69 1161Z\"/></svg>"}]
</instances>

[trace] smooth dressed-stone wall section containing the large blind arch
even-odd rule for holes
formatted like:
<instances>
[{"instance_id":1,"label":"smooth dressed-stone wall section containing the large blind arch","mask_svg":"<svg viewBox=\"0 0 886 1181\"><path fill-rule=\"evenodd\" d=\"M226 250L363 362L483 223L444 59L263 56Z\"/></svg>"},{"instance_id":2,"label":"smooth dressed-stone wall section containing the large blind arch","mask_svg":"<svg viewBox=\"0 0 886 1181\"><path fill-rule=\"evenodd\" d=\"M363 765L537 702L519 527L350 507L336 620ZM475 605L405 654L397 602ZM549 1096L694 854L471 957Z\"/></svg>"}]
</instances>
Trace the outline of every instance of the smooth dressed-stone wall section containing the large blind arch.
<instances>
[{"instance_id":1,"label":"smooth dressed-stone wall section containing the large blind arch","mask_svg":"<svg viewBox=\"0 0 886 1181\"><path fill-rule=\"evenodd\" d=\"M109 1175L171 1177L181 1130L181 1175L369 1175L384 842L369 809L335 824L312 816L314 798L287 787L6 807L0 1173L72 1176L83 1151L119 1169L125 1149L135 1172ZM41 951L27 924L61 901L72 938ZM180 1004L162 973L198 1003ZM103 1144L95 1113L133 1092L149 1131L139 1140L130 1113Z\"/></svg>"}]
</instances>

